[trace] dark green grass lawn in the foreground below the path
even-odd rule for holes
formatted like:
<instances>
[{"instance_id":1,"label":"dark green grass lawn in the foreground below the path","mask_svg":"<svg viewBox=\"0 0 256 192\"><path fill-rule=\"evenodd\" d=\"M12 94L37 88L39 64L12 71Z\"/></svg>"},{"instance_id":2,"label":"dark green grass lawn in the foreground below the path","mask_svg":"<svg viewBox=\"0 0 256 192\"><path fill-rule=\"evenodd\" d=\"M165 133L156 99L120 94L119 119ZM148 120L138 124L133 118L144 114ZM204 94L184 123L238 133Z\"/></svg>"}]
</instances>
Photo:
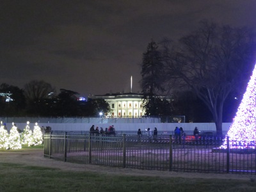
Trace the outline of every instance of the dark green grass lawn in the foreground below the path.
<instances>
[{"instance_id":1,"label":"dark green grass lawn in the foreground below the path","mask_svg":"<svg viewBox=\"0 0 256 192\"><path fill-rule=\"evenodd\" d=\"M256 181L118 176L0 164L0 191L256 191Z\"/></svg>"}]
</instances>

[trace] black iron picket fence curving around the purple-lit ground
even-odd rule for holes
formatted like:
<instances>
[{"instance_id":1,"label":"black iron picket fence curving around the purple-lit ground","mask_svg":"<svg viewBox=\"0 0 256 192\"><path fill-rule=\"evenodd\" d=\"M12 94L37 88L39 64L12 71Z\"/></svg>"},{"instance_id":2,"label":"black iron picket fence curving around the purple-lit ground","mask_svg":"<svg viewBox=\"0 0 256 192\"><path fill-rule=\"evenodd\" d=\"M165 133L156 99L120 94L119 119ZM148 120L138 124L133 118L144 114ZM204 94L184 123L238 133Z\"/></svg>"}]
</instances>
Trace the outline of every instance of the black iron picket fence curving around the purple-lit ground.
<instances>
[{"instance_id":1,"label":"black iron picket fence curving around the purple-lit ground","mask_svg":"<svg viewBox=\"0 0 256 192\"><path fill-rule=\"evenodd\" d=\"M44 156L60 161L145 170L255 174L255 145L221 149L221 136L90 136L58 132L44 136Z\"/></svg>"}]
</instances>

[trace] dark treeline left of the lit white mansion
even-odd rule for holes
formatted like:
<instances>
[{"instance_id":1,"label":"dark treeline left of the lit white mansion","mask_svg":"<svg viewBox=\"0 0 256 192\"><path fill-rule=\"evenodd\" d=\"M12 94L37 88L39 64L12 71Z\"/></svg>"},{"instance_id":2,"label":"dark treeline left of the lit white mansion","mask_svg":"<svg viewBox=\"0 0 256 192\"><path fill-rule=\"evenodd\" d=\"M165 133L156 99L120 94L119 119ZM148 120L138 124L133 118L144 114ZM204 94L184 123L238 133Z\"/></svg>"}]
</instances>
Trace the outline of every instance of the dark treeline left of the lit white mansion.
<instances>
[{"instance_id":1,"label":"dark treeline left of the lit white mansion","mask_svg":"<svg viewBox=\"0 0 256 192\"><path fill-rule=\"evenodd\" d=\"M24 89L2 83L0 116L99 116L110 111L104 99L78 100L79 93L56 90L45 81L31 81Z\"/></svg>"}]
</instances>

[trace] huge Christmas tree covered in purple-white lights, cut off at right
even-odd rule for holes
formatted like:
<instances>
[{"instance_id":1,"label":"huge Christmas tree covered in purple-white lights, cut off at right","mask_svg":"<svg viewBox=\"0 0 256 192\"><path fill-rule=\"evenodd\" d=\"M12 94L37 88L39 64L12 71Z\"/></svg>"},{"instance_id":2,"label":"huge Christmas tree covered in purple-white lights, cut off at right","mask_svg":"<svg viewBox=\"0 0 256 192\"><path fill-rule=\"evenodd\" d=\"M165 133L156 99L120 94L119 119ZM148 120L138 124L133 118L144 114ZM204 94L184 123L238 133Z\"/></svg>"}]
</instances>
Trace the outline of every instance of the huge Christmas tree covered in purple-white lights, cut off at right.
<instances>
[{"instance_id":1,"label":"huge Christmas tree covered in purple-white lights, cut off at right","mask_svg":"<svg viewBox=\"0 0 256 192\"><path fill-rule=\"evenodd\" d=\"M256 65L227 136L230 148L255 148ZM227 136L221 148L227 148Z\"/></svg>"}]
</instances>

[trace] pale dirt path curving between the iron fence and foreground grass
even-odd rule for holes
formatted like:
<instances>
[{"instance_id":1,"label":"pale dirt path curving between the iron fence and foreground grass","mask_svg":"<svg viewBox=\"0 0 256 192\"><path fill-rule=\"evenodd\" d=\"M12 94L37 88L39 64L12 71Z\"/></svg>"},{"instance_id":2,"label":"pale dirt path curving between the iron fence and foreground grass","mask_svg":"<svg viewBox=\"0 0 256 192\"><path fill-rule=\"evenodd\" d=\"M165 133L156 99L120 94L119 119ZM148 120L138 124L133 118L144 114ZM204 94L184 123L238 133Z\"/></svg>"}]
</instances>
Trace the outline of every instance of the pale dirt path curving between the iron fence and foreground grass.
<instances>
[{"instance_id":1,"label":"pale dirt path curving between the iron fence and foreground grass","mask_svg":"<svg viewBox=\"0 0 256 192\"><path fill-rule=\"evenodd\" d=\"M204 179L254 179L256 175L239 175L239 174L212 174L212 173L182 173L168 171L152 171L152 170L134 170L130 168L116 168L108 166L98 166L91 164L75 164L56 161L44 157L42 149L28 149L24 151L3 151L0 152L0 163L19 163L29 166L45 166L59 168L63 171L75 172L97 172L109 175L147 175L156 177L186 177L186 178L204 178Z\"/></svg>"}]
</instances>

